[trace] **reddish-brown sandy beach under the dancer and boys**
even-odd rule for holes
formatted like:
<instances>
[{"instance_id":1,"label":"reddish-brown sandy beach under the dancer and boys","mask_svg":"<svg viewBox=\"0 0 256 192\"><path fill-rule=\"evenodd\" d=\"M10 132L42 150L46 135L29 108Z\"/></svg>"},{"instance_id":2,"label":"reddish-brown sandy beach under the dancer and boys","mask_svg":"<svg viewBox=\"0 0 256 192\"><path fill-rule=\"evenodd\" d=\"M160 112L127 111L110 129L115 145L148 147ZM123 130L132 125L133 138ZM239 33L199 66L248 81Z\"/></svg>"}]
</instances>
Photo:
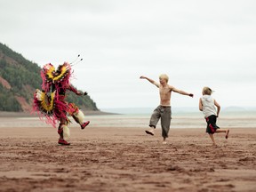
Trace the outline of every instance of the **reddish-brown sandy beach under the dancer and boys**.
<instances>
[{"instance_id":1,"label":"reddish-brown sandy beach under the dancer and boys","mask_svg":"<svg viewBox=\"0 0 256 192\"><path fill-rule=\"evenodd\" d=\"M204 128L171 127L163 145L160 128L149 136L147 124L92 122L84 130L73 125L71 145L60 146L51 126L0 120L1 192L256 191L256 127L231 128L228 140L216 134L212 147Z\"/></svg>"}]
</instances>

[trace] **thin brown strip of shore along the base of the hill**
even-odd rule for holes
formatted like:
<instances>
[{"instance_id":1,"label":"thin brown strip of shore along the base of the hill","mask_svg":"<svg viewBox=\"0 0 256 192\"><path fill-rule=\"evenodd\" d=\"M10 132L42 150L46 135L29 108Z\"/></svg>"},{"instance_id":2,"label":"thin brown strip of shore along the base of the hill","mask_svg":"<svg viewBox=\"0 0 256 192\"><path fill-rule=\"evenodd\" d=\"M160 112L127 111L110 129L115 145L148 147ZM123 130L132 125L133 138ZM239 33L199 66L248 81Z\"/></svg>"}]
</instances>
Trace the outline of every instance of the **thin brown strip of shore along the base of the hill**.
<instances>
[{"instance_id":1,"label":"thin brown strip of shore along the base of the hill","mask_svg":"<svg viewBox=\"0 0 256 192\"><path fill-rule=\"evenodd\" d=\"M117 113L109 113L104 111L84 111L85 116L108 116L108 115L117 115ZM0 111L0 117L31 117L37 116L36 113L28 112L9 112L9 111Z\"/></svg>"}]
</instances>

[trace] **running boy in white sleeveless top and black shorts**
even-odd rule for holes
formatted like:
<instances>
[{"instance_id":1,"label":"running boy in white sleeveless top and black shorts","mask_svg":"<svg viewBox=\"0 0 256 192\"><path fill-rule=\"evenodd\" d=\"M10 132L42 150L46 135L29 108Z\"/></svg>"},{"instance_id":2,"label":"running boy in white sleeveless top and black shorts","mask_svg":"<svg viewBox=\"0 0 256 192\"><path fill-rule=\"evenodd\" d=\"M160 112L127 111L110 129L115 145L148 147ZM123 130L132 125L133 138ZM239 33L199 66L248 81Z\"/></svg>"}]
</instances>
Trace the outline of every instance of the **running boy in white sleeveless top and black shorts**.
<instances>
[{"instance_id":1,"label":"running boy in white sleeveless top and black shorts","mask_svg":"<svg viewBox=\"0 0 256 192\"><path fill-rule=\"evenodd\" d=\"M199 100L199 110L203 111L205 120L207 122L207 128L206 132L209 134L212 145L216 146L213 134L215 132L225 132L226 133L226 139L228 139L228 129L220 129L219 126L217 126L217 117L220 114L220 104L212 98L212 89L209 87L203 88L203 96ZM217 107L217 111L216 108Z\"/></svg>"}]
</instances>

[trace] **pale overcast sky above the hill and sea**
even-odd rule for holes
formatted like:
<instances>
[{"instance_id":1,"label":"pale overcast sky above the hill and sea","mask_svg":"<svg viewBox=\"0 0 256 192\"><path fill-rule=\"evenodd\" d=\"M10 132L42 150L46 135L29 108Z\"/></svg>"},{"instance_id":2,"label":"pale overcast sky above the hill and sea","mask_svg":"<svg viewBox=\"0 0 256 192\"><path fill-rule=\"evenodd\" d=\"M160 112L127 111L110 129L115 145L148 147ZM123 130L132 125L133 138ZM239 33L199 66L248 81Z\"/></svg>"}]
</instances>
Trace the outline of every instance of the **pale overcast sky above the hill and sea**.
<instances>
[{"instance_id":1,"label":"pale overcast sky above the hill and sea","mask_svg":"<svg viewBox=\"0 0 256 192\"><path fill-rule=\"evenodd\" d=\"M256 107L256 1L0 0L0 42L39 66L71 62L72 83L98 108L197 107L204 86L223 107Z\"/></svg>"}]
</instances>

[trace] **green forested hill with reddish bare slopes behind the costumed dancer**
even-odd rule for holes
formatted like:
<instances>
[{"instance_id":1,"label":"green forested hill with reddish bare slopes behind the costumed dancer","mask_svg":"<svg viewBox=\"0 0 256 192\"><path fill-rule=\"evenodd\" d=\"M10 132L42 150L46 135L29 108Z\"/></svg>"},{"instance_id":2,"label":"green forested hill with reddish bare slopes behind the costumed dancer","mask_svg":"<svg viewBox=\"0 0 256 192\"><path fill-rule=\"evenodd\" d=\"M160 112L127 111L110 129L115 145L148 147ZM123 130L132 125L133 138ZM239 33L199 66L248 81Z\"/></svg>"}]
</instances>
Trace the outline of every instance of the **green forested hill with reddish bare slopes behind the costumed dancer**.
<instances>
[{"instance_id":1,"label":"green forested hill with reddish bare slopes behind the costumed dancer","mask_svg":"<svg viewBox=\"0 0 256 192\"><path fill-rule=\"evenodd\" d=\"M41 68L0 43L0 111L29 112L36 89L41 89ZM98 110L90 96L67 92L67 100L84 110Z\"/></svg>"}]
</instances>

